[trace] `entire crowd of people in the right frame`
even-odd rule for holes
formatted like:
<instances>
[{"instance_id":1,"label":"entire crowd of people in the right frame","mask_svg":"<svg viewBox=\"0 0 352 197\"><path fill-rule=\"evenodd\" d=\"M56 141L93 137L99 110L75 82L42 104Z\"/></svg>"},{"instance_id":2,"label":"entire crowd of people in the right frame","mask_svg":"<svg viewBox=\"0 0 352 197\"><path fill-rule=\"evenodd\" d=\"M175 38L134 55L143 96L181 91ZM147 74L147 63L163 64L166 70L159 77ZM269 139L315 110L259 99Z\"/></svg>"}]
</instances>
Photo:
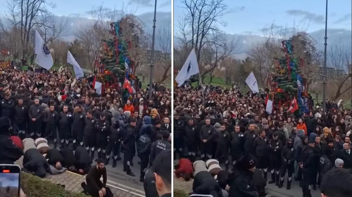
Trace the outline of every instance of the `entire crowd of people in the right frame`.
<instances>
[{"instance_id":1,"label":"entire crowd of people in the right frame","mask_svg":"<svg viewBox=\"0 0 352 197\"><path fill-rule=\"evenodd\" d=\"M326 115L319 105L299 117L289 106L269 114L266 94L235 85L175 87L176 176L194 178L193 192L213 196L266 196L267 184L286 182L290 190L293 181L303 197L317 186L327 197L351 196L351 110L327 101Z\"/></svg>"}]
</instances>

